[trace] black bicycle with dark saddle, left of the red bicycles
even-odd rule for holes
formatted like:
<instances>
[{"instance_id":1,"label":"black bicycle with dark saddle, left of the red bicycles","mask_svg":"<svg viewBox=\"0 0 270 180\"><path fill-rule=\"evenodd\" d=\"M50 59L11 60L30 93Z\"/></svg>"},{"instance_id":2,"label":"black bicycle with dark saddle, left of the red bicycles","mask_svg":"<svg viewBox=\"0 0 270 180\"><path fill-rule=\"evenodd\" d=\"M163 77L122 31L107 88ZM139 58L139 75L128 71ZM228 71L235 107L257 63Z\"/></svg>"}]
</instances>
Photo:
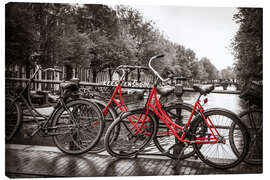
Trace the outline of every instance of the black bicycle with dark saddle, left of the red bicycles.
<instances>
[{"instance_id":1,"label":"black bicycle with dark saddle, left of the red bicycles","mask_svg":"<svg viewBox=\"0 0 270 180\"><path fill-rule=\"evenodd\" d=\"M50 116L39 113L30 97L30 85L38 71L61 72L54 68L42 69L34 62L36 70L26 86L15 93L6 92L5 136L10 141L18 132L23 119L22 104L30 112L36 128L30 136L52 136L55 145L67 154L82 154L91 150L101 137L104 116L96 103L79 98L78 83L62 82L60 97ZM40 119L41 118L41 119Z\"/></svg>"}]
</instances>

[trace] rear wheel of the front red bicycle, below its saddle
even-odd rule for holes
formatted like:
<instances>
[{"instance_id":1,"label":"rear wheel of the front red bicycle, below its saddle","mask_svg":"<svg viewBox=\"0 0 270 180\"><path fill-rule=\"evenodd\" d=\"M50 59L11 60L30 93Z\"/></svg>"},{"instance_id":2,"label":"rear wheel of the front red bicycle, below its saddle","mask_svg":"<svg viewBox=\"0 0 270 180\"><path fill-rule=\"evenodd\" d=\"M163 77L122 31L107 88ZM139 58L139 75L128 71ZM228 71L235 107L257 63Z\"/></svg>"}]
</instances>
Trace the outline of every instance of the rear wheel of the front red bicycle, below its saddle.
<instances>
[{"instance_id":1,"label":"rear wheel of the front red bicycle, below its saddle","mask_svg":"<svg viewBox=\"0 0 270 180\"><path fill-rule=\"evenodd\" d=\"M200 133L202 129L207 129L203 138L214 138L213 134L218 138L217 143L194 143L193 147L199 158L209 166L218 169L228 169L237 166L243 161L248 151L248 134L245 126L241 123L240 119L233 113L227 110L212 110L204 113L208 120L210 128L207 127L204 120L200 118L195 119L191 124L191 132L194 134L193 138L202 136ZM209 119L211 121L209 121ZM237 131L230 133L232 124L237 125ZM217 132L215 131L215 128ZM211 133L213 132L213 134ZM234 136L235 142L237 141L236 154L231 146L231 136Z\"/></svg>"}]
</instances>

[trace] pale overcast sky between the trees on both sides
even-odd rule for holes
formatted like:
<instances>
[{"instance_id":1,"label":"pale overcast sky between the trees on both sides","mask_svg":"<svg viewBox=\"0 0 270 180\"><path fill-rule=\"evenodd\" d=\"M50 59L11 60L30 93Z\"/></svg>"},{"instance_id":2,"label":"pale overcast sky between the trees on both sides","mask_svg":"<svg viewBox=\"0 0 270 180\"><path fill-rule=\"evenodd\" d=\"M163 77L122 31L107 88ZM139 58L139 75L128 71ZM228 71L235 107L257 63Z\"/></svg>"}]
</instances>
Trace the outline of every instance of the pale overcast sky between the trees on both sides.
<instances>
[{"instance_id":1,"label":"pale overcast sky between the trees on both sides","mask_svg":"<svg viewBox=\"0 0 270 180\"><path fill-rule=\"evenodd\" d=\"M198 59L207 57L218 70L232 66L231 40L238 30L232 20L236 8L141 6L131 7L156 27L170 41L192 49Z\"/></svg>"}]
</instances>

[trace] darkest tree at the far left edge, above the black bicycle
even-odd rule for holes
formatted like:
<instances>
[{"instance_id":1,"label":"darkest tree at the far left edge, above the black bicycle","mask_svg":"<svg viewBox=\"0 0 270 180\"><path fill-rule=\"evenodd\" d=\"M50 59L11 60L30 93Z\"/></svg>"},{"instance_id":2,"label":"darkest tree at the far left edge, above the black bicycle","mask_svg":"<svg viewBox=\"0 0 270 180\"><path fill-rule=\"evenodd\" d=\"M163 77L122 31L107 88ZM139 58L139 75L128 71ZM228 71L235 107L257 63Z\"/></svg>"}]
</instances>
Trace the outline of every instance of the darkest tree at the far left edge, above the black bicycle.
<instances>
[{"instance_id":1,"label":"darkest tree at the far left edge, above the black bicycle","mask_svg":"<svg viewBox=\"0 0 270 180\"><path fill-rule=\"evenodd\" d=\"M31 4L6 4L6 65L26 65L29 77L30 56L38 49L37 40Z\"/></svg>"}]
</instances>

